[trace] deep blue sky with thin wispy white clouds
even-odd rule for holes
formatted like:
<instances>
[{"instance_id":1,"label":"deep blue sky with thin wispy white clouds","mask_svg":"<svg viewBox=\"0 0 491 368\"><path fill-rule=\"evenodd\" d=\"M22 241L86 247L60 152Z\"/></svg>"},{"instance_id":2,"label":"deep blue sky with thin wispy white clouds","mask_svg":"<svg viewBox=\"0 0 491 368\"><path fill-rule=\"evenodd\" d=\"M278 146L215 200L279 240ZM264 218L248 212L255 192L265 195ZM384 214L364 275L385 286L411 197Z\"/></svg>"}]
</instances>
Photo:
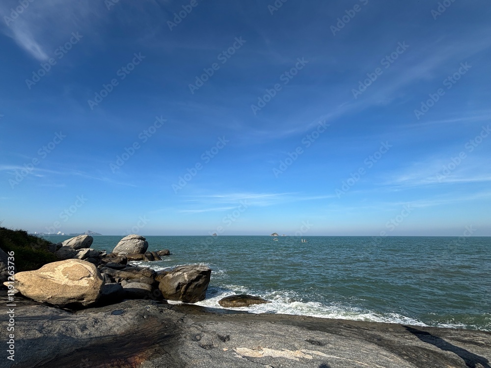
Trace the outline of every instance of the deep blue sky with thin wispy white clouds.
<instances>
[{"instance_id":1,"label":"deep blue sky with thin wispy white clouds","mask_svg":"<svg viewBox=\"0 0 491 368\"><path fill-rule=\"evenodd\" d=\"M491 236L491 4L3 0L0 221Z\"/></svg>"}]
</instances>

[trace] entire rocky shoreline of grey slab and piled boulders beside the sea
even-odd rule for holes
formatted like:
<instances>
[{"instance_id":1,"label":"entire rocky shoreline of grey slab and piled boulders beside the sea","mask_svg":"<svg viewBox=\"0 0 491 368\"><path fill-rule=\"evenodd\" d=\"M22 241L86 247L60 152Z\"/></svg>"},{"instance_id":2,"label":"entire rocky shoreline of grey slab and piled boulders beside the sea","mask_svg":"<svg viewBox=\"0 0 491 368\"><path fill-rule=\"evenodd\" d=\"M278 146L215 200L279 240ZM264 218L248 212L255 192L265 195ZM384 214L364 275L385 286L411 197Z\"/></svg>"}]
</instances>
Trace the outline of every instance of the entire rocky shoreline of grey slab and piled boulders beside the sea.
<instances>
[{"instance_id":1,"label":"entire rocky shoreline of grey slab and piled boulders beside the sea","mask_svg":"<svg viewBox=\"0 0 491 368\"><path fill-rule=\"evenodd\" d=\"M87 236L68 239L52 249L61 261L4 283L3 300L17 293L12 313L0 317L13 327L9 367L491 368L489 332L182 304L205 298L210 268L131 266L129 260L169 254L147 252L138 235L121 239L110 254L91 244ZM258 303L268 301L232 295L219 302Z\"/></svg>"}]
</instances>

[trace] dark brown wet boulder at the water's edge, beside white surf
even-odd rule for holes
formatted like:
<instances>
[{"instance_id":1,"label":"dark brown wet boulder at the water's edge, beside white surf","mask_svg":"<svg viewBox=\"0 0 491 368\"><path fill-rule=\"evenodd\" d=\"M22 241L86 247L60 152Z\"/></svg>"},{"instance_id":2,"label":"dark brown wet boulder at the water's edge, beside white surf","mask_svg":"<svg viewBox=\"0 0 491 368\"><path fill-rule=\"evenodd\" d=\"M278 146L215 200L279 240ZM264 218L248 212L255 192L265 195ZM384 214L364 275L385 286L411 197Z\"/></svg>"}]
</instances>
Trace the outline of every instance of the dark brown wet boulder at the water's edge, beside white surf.
<instances>
[{"instance_id":1,"label":"dark brown wet boulder at the water's edge, beside white surf","mask_svg":"<svg viewBox=\"0 0 491 368\"><path fill-rule=\"evenodd\" d=\"M211 273L200 264L178 266L160 279L159 289L167 300L196 303L205 298Z\"/></svg>"}]
</instances>

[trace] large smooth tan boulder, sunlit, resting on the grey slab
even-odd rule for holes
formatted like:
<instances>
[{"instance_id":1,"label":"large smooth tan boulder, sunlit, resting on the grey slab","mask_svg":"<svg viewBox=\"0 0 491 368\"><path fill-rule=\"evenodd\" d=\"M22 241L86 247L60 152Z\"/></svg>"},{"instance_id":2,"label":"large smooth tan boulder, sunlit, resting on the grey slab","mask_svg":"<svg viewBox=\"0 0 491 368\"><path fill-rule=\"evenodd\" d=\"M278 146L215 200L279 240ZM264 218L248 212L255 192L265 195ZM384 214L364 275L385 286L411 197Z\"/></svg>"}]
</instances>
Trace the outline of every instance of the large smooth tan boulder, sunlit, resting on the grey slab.
<instances>
[{"instance_id":1,"label":"large smooth tan boulder, sunlit, resting on the grey slab","mask_svg":"<svg viewBox=\"0 0 491 368\"><path fill-rule=\"evenodd\" d=\"M103 284L101 273L92 263L66 260L16 273L14 288L37 302L76 307L96 302Z\"/></svg>"}]
</instances>

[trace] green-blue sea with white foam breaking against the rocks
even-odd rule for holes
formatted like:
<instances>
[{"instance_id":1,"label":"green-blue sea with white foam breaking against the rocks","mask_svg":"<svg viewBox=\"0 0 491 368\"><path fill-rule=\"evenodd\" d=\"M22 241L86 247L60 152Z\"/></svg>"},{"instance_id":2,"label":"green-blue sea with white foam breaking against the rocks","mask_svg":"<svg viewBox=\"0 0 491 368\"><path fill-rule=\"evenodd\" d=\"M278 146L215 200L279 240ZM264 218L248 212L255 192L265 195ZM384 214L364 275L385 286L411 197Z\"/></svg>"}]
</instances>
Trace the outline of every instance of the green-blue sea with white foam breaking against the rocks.
<instances>
[{"instance_id":1,"label":"green-blue sea with white foam breaking against the rocks","mask_svg":"<svg viewBox=\"0 0 491 368\"><path fill-rule=\"evenodd\" d=\"M121 238L94 236L92 248ZM171 255L135 265L212 269L204 307L246 293L272 303L237 310L491 331L491 237L146 238Z\"/></svg>"}]
</instances>

